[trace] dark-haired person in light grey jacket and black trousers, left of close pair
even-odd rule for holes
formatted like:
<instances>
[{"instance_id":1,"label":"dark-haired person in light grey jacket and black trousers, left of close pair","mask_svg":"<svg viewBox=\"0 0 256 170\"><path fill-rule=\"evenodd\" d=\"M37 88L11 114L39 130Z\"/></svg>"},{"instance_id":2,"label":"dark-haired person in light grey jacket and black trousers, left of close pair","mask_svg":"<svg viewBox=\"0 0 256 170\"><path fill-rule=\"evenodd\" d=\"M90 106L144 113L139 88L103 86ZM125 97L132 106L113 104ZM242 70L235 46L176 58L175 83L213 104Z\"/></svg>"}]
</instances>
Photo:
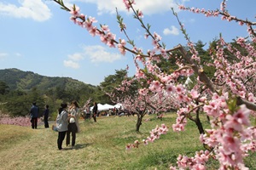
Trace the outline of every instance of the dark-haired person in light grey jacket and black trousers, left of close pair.
<instances>
[{"instance_id":1,"label":"dark-haired person in light grey jacket and black trousers, left of close pair","mask_svg":"<svg viewBox=\"0 0 256 170\"><path fill-rule=\"evenodd\" d=\"M62 143L67 132L67 103L62 103L56 118L56 130L58 131L58 149L62 150Z\"/></svg>"}]
</instances>

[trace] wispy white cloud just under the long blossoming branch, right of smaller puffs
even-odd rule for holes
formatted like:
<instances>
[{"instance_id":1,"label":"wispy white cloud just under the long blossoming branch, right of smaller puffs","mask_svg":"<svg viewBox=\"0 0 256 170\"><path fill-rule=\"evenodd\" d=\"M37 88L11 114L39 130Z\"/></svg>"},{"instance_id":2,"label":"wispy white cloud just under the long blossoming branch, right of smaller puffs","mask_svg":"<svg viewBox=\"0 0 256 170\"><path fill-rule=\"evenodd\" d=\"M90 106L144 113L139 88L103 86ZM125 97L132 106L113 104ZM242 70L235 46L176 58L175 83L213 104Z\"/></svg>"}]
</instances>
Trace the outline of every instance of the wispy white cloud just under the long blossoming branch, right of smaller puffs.
<instances>
[{"instance_id":1,"label":"wispy white cloud just under the long blossoming branch, right of smaller puffs","mask_svg":"<svg viewBox=\"0 0 256 170\"><path fill-rule=\"evenodd\" d=\"M84 55L86 57L89 57L90 61L93 63L98 62L107 62L107 63L113 63L113 61L121 59L121 55L116 53L109 53L107 48L104 48L102 46L86 46L84 47Z\"/></svg>"}]
</instances>

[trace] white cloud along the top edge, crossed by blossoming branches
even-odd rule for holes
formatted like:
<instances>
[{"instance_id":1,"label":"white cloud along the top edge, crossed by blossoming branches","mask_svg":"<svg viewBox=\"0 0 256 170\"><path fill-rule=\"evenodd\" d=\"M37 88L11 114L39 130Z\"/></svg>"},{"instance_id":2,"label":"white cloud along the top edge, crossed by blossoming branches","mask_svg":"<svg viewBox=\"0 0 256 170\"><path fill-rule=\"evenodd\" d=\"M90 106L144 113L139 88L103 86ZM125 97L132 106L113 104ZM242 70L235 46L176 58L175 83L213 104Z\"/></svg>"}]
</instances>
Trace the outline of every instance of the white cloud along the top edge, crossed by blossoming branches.
<instances>
[{"instance_id":1,"label":"white cloud along the top edge, crossed by blossoming branches","mask_svg":"<svg viewBox=\"0 0 256 170\"><path fill-rule=\"evenodd\" d=\"M78 0L77 0L78 1ZM125 4L120 0L79 0L84 3L96 3L98 14L110 13L115 14L115 8L119 11L127 11ZM159 14L166 11L171 11L171 7L177 11L177 3L182 3L181 0L136 0L136 9L139 8L143 11L143 14Z\"/></svg>"}]
</instances>

